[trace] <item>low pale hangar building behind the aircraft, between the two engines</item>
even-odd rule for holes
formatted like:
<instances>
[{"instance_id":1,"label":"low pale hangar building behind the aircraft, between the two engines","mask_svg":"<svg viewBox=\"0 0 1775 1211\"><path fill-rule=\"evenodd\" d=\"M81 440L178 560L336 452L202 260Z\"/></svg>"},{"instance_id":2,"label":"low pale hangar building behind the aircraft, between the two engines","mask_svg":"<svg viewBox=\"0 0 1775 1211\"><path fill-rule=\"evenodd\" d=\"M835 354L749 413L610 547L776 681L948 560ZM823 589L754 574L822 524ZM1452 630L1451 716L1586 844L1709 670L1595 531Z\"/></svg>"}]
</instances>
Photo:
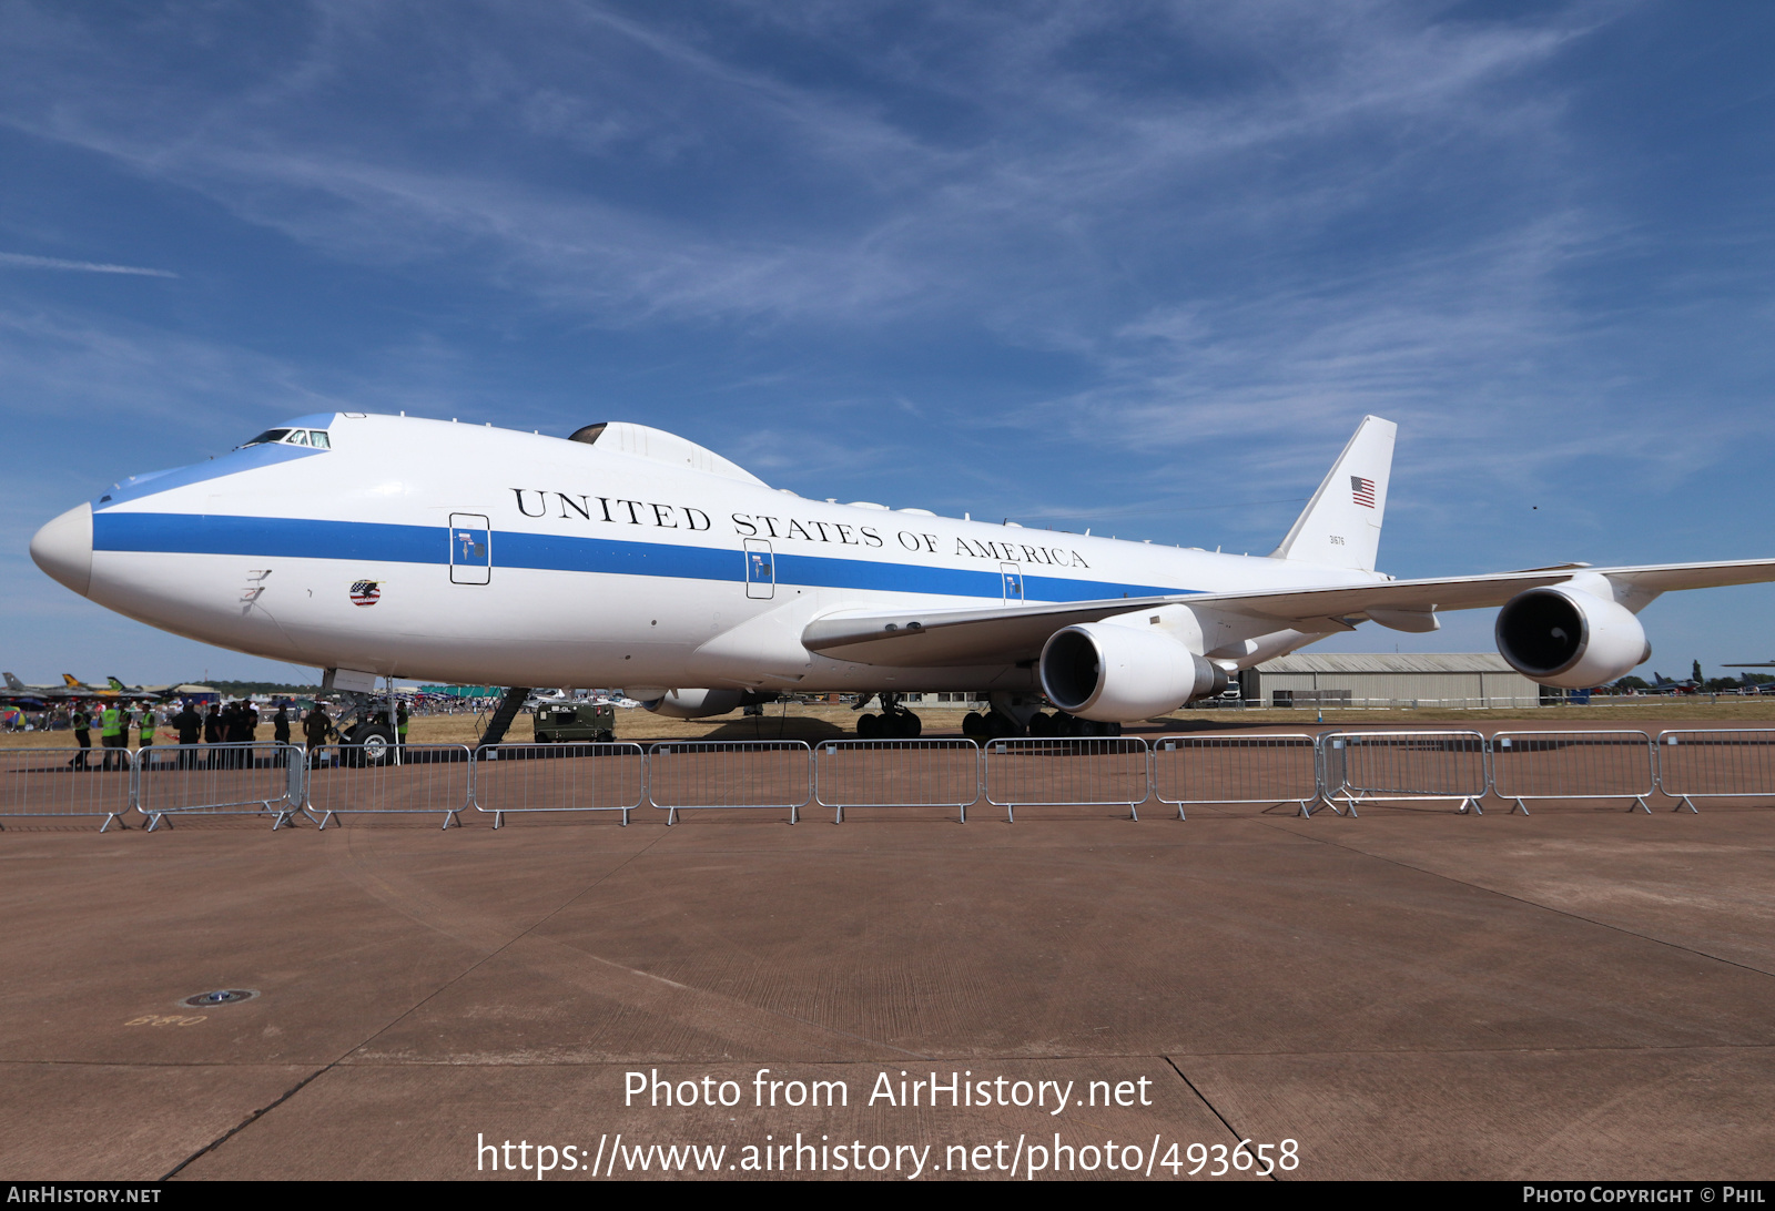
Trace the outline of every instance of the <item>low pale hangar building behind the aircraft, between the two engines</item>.
<instances>
[{"instance_id":1,"label":"low pale hangar building behind the aircraft, between the two engines","mask_svg":"<svg viewBox=\"0 0 1775 1211\"><path fill-rule=\"evenodd\" d=\"M1541 687L1496 652L1296 652L1239 677L1266 707L1539 707Z\"/></svg>"}]
</instances>

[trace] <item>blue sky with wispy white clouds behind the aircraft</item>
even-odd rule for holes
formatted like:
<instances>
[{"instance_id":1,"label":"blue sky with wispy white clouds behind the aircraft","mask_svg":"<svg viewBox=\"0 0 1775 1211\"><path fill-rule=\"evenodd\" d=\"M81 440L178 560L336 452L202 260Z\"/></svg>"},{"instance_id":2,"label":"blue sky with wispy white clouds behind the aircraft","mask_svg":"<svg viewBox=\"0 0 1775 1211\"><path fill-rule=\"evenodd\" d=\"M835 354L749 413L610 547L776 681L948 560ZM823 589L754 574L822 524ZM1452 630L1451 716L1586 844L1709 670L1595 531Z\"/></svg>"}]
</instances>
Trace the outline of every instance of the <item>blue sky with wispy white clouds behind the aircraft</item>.
<instances>
[{"instance_id":1,"label":"blue sky with wispy white clouds behind the aircraft","mask_svg":"<svg viewBox=\"0 0 1775 1211\"><path fill-rule=\"evenodd\" d=\"M1230 550L1374 412L1397 575L1775 556L1770 44L1674 0L0 0L0 661L311 678L25 547L332 407ZM1768 659L1771 607L1670 595L1653 666Z\"/></svg>"}]
</instances>

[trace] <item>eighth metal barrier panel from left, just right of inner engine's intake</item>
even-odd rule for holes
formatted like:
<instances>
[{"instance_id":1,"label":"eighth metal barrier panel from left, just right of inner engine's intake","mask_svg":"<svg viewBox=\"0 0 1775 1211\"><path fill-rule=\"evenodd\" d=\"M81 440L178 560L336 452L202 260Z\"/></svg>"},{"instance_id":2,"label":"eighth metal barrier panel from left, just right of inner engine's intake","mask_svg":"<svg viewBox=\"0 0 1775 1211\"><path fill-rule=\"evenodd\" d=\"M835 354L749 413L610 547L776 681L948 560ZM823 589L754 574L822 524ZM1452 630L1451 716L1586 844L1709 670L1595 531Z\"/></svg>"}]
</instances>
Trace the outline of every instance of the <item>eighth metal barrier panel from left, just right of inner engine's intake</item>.
<instances>
[{"instance_id":1,"label":"eighth metal barrier panel from left, just right of inner engine's intake","mask_svg":"<svg viewBox=\"0 0 1775 1211\"><path fill-rule=\"evenodd\" d=\"M1152 795L1177 819L1193 803L1298 803L1319 799L1310 735L1161 735L1152 740Z\"/></svg>"}]
</instances>

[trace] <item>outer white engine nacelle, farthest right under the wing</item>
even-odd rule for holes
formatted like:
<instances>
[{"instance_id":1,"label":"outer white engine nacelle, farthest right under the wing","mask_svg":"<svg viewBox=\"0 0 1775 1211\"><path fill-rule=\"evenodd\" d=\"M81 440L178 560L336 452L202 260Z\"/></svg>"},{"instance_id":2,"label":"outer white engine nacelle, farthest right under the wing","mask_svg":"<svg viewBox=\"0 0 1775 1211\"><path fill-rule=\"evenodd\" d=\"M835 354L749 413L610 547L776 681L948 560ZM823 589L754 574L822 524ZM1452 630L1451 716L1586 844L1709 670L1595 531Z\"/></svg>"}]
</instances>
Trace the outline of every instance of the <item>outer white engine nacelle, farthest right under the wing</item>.
<instances>
[{"instance_id":1,"label":"outer white engine nacelle, farthest right under the wing","mask_svg":"<svg viewBox=\"0 0 1775 1211\"><path fill-rule=\"evenodd\" d=\"M1518 593L1498 611L1498 655L1542 685L1590 689L1651 659L1626 606L1564 584Z\"/></svg>"}]
</instances>

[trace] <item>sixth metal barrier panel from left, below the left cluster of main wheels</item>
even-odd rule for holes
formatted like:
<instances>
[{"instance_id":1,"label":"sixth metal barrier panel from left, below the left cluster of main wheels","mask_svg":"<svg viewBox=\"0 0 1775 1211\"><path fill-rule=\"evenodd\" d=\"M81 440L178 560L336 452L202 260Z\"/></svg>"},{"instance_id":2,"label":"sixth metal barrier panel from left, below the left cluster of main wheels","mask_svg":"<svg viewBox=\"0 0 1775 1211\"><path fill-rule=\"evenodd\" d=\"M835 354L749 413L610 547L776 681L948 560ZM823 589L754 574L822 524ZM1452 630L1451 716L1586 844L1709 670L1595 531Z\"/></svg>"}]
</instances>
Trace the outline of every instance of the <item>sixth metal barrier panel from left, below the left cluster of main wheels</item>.
<instances>
[{"instance_id":1,"label":"sixth metal barrier panel from left, below the left cluster of main wheels","mask_svg":"<svg viewBox=\"0 0 1775 1211\"><path fill-rule=\"evenodd\" d=\"M955 808L980 799L973 740L822 740L813 751L813 801L832 808Z\"/></svg>"}]
</instances>

